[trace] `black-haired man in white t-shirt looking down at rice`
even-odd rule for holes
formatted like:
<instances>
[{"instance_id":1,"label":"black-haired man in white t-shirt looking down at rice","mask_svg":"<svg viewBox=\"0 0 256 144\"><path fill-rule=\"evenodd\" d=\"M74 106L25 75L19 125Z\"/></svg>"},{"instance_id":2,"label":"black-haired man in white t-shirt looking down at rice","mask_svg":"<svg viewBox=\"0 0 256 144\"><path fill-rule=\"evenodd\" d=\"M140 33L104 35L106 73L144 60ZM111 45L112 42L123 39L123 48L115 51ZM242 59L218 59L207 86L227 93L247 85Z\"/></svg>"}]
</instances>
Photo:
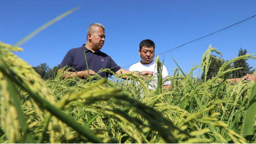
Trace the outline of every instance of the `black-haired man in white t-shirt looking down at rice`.
<instances>
[{"instance_id":1,"label":"black-haired man in white t-shirt looking down at rice","mask_svg":"<svg viewBox=\"0 0 256 144\"><path fill-rule=\"evenodd\" d=\"M133 64L129 71L134 72L142 72L142 71L153 71L153 76L156 77L155 85L157 86L157 69L156 69L156 62L153 60L155 56L155 43L149 39L143 40L139 44L139 55L141 58L141 61L137 62L136 64ZM169 76L168 71L165 66L162 66L162 78ZM170 89L170 81L167 81L163 84L163 87L167 90ZM149 86L149 89L152 89L151 86Z\"/></svg>"}]
</instances>

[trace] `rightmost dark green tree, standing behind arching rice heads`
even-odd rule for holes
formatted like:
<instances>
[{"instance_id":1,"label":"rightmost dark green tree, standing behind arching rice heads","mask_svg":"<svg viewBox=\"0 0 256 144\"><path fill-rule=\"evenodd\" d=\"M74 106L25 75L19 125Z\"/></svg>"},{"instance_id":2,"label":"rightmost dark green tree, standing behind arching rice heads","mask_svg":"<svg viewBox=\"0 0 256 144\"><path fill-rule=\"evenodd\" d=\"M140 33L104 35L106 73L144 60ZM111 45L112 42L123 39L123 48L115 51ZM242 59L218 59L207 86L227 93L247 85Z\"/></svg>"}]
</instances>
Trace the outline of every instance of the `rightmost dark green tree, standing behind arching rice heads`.
<instances>
[{"instance_id":1,"label":"rightmost dark green tree, standing behind arching rice heads","mask_svg":"<svg viewBox=\"0 0 256 144\"><path fill-rule=\"evenodd\" d=\"M247 53L247 50L246 49L243 50L241 48L238 52L238 56L246 55L246 53ZM252 66L249 66L249 64L246 62L245 59L237 60L234 63L235 63L235 68L243 67L243 69L239 69L235 71L236 78L244 77L246 74L250 72L250 69L253 68Z\"/></svg>"}]
</instances>

